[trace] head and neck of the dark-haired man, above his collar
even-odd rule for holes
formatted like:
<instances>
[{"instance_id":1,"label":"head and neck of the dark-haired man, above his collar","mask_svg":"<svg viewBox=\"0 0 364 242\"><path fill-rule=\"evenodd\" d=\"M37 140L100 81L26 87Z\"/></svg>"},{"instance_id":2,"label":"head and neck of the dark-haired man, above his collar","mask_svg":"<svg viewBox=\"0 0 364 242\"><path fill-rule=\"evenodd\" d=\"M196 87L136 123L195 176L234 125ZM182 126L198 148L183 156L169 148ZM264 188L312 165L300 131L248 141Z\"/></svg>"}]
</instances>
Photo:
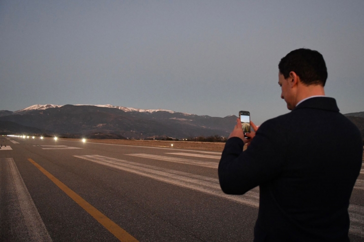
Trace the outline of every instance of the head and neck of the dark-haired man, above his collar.
<instances>
[{"instance_id":1,"label":"head and neck of the dark-haired man, above his collar","mask_svg":"<svg viewBox=\"0 0 364 242\"><path fill-rule=\"evenodd\" d=\"M292 110L304 98L325 95L327 80L325 60L317 51L298 49L284 56L279 64L279 81L282 88L281 98Z\"/></svg>"}]
</instances>

